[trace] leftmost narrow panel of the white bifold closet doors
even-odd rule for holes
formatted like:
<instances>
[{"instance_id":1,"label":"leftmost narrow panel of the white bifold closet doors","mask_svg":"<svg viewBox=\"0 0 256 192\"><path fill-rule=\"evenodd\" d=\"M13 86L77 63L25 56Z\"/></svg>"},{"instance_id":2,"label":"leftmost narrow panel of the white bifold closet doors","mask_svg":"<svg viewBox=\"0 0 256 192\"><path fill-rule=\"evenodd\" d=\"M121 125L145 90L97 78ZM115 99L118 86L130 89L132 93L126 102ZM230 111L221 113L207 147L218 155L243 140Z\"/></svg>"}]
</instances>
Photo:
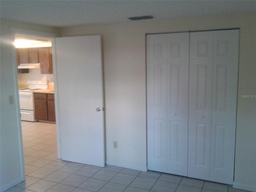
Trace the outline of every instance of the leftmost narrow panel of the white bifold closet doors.
<instances>
[{"instance_id":1,"label":"leftmost narrow panel of the white bifold closet doors","mask_svg":"<svg viewBox=\"0 0 256 192\"><path fill-rule=\"evenodd\" d=\"M147 35L148 169L166 172L166 34Z\"/></svg>"}]
</instances>

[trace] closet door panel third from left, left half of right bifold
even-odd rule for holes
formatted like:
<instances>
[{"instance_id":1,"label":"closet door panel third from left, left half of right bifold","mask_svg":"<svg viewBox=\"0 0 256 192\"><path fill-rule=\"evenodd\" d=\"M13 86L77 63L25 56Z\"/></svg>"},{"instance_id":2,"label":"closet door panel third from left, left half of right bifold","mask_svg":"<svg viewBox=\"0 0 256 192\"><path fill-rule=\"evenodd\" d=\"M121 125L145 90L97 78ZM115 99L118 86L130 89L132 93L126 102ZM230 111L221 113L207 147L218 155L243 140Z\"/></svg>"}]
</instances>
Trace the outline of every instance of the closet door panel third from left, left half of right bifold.
<instances>
[{"instance_id":1,"label":"closet door panel third from left, left half of right bifold","mask_svg":"<svg viewBox=\"0 0 256 192\"><path fill-rule=\"evenodd\" d=\"M190 33L188 177L210 179L213 32Z\"/></svg>"}]
</instances>

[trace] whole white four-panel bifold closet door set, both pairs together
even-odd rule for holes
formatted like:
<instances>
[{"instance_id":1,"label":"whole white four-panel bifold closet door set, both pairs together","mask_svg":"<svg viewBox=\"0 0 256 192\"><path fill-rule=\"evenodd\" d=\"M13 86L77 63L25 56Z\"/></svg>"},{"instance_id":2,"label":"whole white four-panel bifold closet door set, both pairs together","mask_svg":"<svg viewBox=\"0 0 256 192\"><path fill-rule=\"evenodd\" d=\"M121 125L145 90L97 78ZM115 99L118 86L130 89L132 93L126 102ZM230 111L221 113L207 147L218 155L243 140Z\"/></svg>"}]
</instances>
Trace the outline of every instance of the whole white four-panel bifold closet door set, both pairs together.
<instances>
[{"instance_id":1,"label":"whole white four-panel bifold closet door set, both pairs together","mask_svg":"<svg viewBox=\"0 0 256 192\"><path fill-rule=\"evenodd\" d=\"M239 30L147 35L148 169L233 184Z\"/></svg>"}]
</instances>

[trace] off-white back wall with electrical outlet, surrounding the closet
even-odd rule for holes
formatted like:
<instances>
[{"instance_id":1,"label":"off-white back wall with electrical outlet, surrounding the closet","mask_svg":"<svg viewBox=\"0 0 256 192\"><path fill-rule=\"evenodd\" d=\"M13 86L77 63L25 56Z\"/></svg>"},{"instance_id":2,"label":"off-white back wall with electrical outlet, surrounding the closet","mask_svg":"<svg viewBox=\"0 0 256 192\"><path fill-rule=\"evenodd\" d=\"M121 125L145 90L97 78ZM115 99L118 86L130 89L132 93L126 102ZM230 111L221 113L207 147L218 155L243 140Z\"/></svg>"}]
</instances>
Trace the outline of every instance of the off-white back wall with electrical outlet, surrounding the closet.
<instances>
[{"instance_id":1,"label":"off-white back wall with electrical outlet, surrounding the closet","mask_svg":"<svg viewBox=\"0 0 256 192\"><path fill-rule=\"evenodd\" d=\"M234 186L256 191L256 14L227 14L62 28L61 36L102 35L107 164L145 170L146 33L240 28ZM118 149L113 148L118 141Z\"/></svg>"}]
</instances>

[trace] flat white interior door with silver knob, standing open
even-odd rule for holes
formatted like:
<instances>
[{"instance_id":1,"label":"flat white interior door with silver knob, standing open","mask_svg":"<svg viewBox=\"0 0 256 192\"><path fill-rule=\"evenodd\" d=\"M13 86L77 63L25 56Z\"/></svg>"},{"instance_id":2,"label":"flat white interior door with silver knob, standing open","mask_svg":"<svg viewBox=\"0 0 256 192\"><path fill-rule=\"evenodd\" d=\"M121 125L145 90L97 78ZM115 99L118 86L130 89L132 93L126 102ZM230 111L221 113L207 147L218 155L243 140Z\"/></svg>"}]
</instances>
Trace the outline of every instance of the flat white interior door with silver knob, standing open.
<instances>
[{"instance_id":1,"label":"flat white interior door with silver knob, standing open","mask_svg":"<svg viewBox=\"0 0 256 192\"><path fill-rule=\"evenodd\" d=\"M101 37L56 38L55 46L61 158L103 167Z\"/></svg>"}]
</instances>

